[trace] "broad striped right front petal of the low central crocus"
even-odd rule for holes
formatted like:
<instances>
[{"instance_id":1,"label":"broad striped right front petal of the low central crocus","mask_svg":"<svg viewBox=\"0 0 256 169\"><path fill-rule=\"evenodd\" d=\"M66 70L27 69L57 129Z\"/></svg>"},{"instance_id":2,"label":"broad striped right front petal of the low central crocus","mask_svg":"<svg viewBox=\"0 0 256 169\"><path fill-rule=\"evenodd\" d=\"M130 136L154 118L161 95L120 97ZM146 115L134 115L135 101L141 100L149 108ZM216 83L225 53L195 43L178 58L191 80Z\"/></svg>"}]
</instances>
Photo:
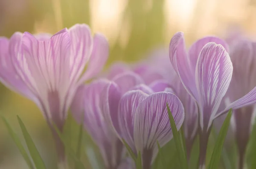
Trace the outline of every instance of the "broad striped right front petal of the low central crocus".
<instances>
[{"instance_id":1,"label":"broad striped right front petal of the low central crocus","mask_svg":"<svg viewBox=\"0 0 256 169\"><path fill-rule=\"evenodd\" d=\"M137 151L142 152L143 158L151 161L158 152L157 140L162 147L173 137L166 103L179 130L184 120L184 108L172 93L158 92L149 95L140 102L135 112L134 143Z\"/></svg>"}]
</instances>

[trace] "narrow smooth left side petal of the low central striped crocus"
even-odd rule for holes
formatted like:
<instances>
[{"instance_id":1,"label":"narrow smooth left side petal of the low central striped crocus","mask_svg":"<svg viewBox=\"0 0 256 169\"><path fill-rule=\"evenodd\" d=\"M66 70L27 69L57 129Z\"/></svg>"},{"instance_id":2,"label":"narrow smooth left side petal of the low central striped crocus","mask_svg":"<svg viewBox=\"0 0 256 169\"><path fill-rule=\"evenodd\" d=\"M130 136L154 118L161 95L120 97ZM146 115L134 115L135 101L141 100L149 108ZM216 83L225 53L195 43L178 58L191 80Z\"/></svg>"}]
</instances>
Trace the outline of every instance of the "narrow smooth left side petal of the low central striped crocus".
<instances>
[{"instance_id":1,"label":"narrow smooth left side petal of the low central striped crocus","mask_svg":"<svg viewBox=\"0 0 256 169\"><path fill-rule=\"evenodd\" d=\"M110 82L102 91L101 109L102 114L117 136L120 134L118 122L118 105L121 99L121 92L116 83Z\"/></svg>"}]
</instances>

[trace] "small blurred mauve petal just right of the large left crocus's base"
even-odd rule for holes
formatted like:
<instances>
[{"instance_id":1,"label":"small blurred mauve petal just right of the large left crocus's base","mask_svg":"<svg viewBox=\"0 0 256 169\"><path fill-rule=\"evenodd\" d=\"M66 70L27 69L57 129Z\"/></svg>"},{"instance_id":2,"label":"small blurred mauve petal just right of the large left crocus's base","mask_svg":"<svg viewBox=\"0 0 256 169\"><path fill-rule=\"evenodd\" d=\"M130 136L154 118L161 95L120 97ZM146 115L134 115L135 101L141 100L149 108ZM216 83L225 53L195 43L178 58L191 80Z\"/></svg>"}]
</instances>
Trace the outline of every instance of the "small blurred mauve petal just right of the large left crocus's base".
<instances>
[{"instance_id":1,"label":"small blurred mauve petal just right of the large left crocus's base","mask_svg":"<svg viewBox=\"0 0 256 169\"><path fill-rule=\"evenodd\" d=\"M70 106L71 112L75 120L80 124L83 117L82 113L84 112L84 96L85 91L87 91L88 86L81 85L77 88L76 94L73 97L72 104Z\"/></svg>"}]
</instances>

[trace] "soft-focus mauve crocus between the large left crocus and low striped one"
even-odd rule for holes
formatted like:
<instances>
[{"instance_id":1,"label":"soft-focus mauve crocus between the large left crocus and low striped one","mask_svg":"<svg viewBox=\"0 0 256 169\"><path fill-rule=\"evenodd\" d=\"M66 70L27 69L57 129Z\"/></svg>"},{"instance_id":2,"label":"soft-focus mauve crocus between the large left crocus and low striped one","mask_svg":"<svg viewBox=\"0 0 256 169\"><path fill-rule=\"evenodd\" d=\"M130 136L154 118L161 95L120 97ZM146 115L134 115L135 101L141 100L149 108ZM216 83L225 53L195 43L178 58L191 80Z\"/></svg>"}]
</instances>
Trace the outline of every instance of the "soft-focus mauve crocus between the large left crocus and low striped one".
<instances>
[{"instance_id":1,"label":"soft-focus mauve crocus between the large left crocus and low striped one","mask_svg":"<svg viewBox=\"0 0 256 169\"><path fill-rule=\"evenodd\" d=\"M82 120L84 128L99 146L106 169L117 169L121 166L131 169L132 163L125 160L122 142L103 117L101 95L109 83L111 82L108 80L100 79L90 85L80 86L71 106L72 113L77 117L76 119L84 117Z\"/></svg>"}]
</instances>

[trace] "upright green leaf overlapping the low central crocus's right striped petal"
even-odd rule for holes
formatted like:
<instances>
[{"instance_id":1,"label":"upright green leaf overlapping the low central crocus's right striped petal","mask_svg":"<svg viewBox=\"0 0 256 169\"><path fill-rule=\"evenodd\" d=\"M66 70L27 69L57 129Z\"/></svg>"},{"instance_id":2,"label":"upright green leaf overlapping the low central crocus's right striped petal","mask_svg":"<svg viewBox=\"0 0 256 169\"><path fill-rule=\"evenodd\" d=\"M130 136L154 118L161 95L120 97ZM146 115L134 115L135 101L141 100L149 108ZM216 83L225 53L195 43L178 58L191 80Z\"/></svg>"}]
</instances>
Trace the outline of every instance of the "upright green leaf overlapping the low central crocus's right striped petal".
<instances>
[{"instance_id":1,"label":"upright green leaf overlapping the low central crocus's right striped petal","mask_svg":"<svg viewBox=\"0 0 256 169\"><path fill-rule=\"evenodd\" d=\"M172 113L171 113L171 110L169 108L168 103L166 103L166 106L167 106L169 120L170 120L171 127L172 127L173 138L175 140L177 155L178 155L179 160L180 160L180 166L181 166L182 169L188 169L188 163L187 163L187 160L186 160L186 152L183 148L183 140L181 140L180 134L177 131L177 127L175 125L175 121L172 117Z\"/></svg>"}]
</instances>

